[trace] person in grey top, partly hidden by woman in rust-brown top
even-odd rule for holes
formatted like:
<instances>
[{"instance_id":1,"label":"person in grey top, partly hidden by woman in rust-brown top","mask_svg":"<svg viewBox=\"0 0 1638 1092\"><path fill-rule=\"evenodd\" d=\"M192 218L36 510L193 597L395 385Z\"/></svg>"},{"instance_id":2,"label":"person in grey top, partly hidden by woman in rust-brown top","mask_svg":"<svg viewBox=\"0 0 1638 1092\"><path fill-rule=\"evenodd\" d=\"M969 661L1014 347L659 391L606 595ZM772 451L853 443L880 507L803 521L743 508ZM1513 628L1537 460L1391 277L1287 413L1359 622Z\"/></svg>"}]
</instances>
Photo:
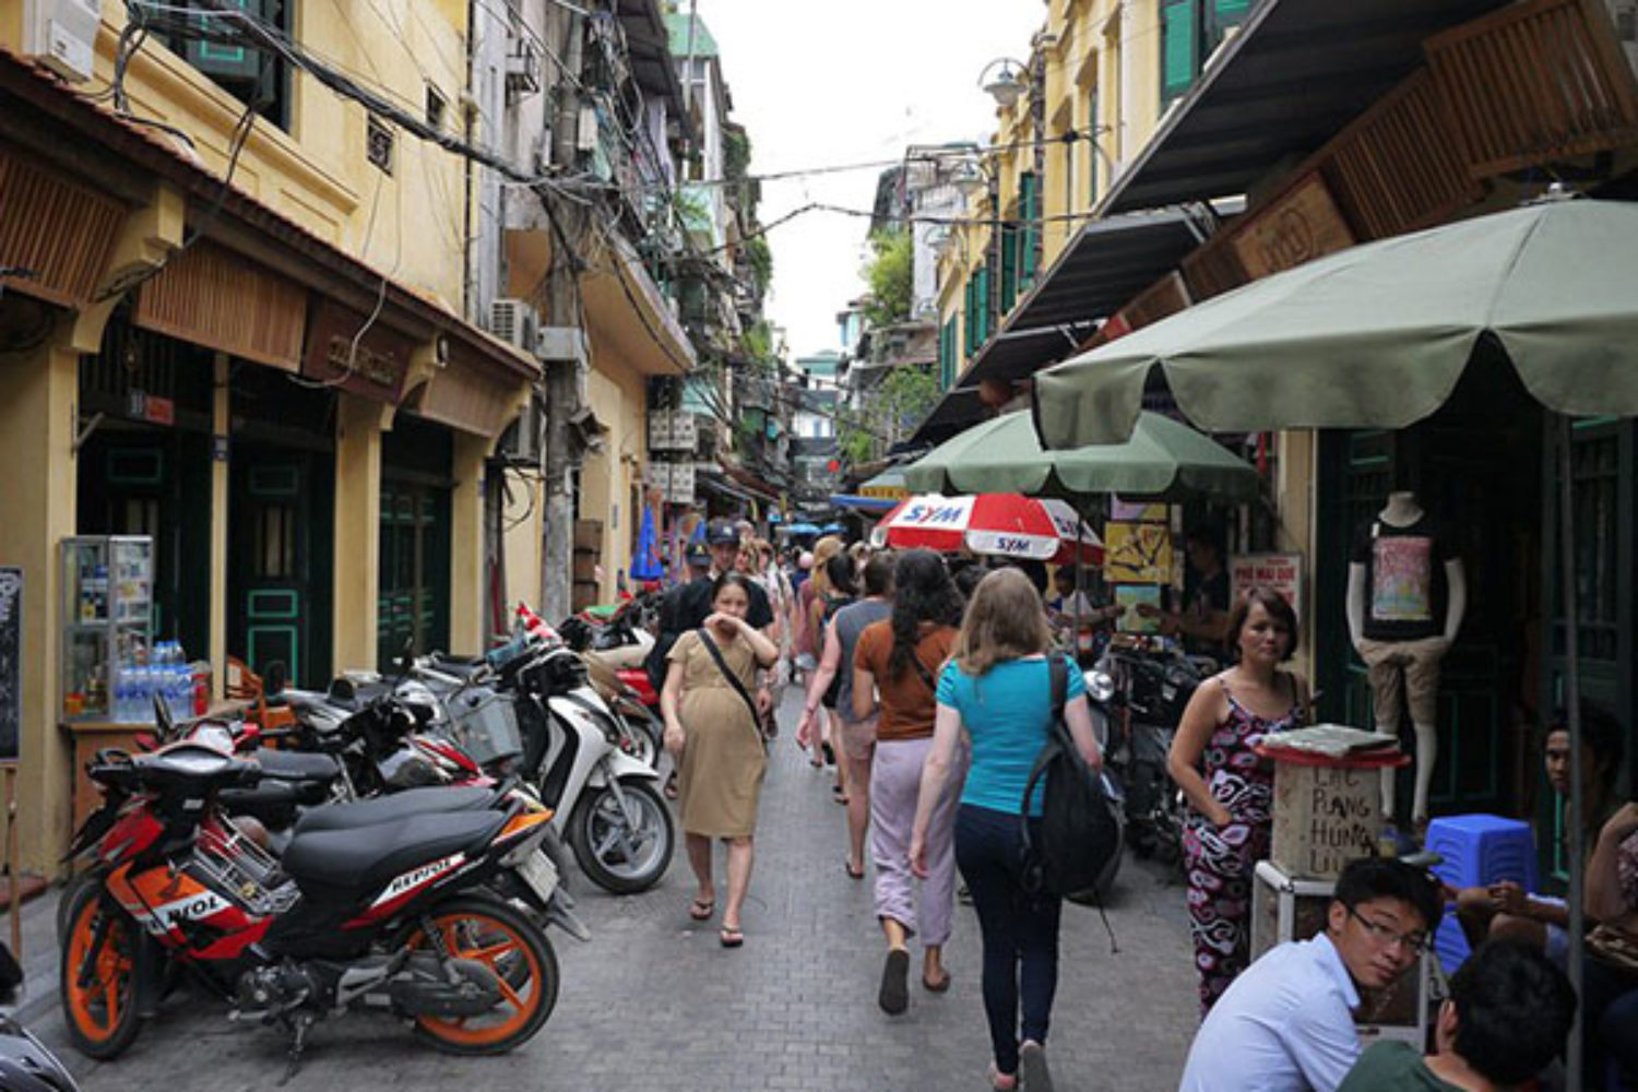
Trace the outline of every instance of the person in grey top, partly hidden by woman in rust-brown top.
<instances>
[{"instance_id":1,"label":"person in grey top, partly hidden by woman in rust-brown top","mask_svg":"<svg viewBox=\"0 0 1638 1092\"><path fill-rule=\"evenodd\" d=\"M840 557L840 555L837 555ZM832 565L837 558L830 558ZM798 733L811 735L824 697L835 688L832 702L842 719L842 761L847 763L847 874L865 878L865 830L870 825L870 761L876 753L876 715L853 715L853 652L865 627L893 612L893 555L876 553L865 563L865 598L835 612L826 627L824 655L808 686Z\"/></svg>"}]
</instances>

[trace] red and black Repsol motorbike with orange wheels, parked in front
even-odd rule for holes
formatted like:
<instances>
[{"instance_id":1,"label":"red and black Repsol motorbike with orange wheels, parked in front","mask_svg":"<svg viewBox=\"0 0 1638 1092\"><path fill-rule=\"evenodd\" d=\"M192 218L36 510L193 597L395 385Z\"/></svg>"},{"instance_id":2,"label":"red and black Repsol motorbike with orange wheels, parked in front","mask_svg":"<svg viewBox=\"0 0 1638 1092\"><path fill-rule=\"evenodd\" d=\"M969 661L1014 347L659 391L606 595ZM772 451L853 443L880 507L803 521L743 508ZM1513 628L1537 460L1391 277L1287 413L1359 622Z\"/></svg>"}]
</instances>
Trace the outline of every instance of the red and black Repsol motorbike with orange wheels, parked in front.
<instances>
[{"instance_id":1,"label":"red and black Repsol motorbike with orange wheels, parked in front","mask_svg":"<svg viewBox=\"0 0 1638 1092\"><path fill-rule=\"evenodd\" d=\"M252 761L183 740L102 751L87 771L103 805L69 850L92 866L66 896L59 971L84 1054L126 1049L175 969L233 1018L285 1027L292 1067L308 1028L346 1009L413 1020L447 1053L498 1054L557 1004L550 941L493 894L505 879L552 900L557 876L536 851L549 810L337 804L274 860L218 805L260 779Z\"/></svg>"}]
</instances>

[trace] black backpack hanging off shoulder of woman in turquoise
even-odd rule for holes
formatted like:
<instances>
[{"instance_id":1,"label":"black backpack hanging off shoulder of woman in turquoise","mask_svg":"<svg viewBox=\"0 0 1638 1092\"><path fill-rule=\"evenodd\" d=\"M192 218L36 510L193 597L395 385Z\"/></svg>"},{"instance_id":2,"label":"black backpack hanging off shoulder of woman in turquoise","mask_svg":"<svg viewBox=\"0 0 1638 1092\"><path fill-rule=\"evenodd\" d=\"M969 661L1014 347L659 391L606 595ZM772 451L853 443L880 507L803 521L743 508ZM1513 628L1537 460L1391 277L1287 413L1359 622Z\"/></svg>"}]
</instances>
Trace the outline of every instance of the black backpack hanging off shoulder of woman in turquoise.
<instances>
[{"instance_id":1,"label":"black backpack hanging off shoulder of woman in turquoise","mask_svg":"<svg viewBox=\"0 0 1638 1092\"><path fill-rule=\"evenodd\" d=\"M1063 720L1068 693L1068 668L1063 657L1048 657L1052 679L1052 717L1047 743L1035 758L1035 768L1024 786L1024 851L1032 886L1066 899L1096 900L1097 881L1104 868L1120 853L1120 814L1115 801L1104 792L1102 778L1093 773L1070 737ZM1029 802L1035 786L1045 779L1040 837L1029 830Z\"/></svg>"}]
</instances>

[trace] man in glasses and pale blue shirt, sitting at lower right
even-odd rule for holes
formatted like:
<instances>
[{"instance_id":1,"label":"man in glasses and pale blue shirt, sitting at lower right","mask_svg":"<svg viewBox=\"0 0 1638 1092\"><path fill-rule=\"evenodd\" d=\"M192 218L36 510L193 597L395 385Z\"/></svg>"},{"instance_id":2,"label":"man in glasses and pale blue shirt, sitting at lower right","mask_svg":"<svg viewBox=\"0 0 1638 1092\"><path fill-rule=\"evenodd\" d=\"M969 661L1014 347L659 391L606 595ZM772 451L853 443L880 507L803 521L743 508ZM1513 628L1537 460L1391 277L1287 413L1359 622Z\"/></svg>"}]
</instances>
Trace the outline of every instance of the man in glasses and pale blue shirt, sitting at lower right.
<instances>
[{"instance_id":1,"label":"man in glasses and pale blue shirt, sitting at lower right","mask_svg":"<svg viewBox=\"0 0 1638 1092\"><path fill-rule=\"evenodd\" d=\"M1360 1058L1360 990L1417 966L1440 918L1438 881L1404 861L1350 861L1325 932L1247 968L1206 1017L1179 1092L1335 1092Z\"/></svg>"}]
</instances>

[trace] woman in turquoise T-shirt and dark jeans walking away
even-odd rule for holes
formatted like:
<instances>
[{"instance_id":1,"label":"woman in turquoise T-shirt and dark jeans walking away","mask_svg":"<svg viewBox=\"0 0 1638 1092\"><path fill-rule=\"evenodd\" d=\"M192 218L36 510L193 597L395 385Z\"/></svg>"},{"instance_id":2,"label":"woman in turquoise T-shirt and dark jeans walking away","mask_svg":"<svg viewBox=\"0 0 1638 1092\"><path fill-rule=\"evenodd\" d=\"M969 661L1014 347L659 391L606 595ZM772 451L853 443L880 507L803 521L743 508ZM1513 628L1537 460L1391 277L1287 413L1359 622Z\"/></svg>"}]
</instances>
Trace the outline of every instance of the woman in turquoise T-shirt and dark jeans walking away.
<instances>
[{"instance_id":1,"label":"woman in turquoise T-shirt and dark jeans walking away","mask_svg":"<svg viewBox=\"0 0 1638 1092\"><path fill-rule=\"evenodd\" d=\"M1022 822L1038 825L1042 809L1037 787L1030 819L1024 819L1024 791L1052 720L1050 642L1047 612L1029 576L1002 568L980 581L955 655L939 676L937 729L911 837L916 874L935 874L940 812L965 735L971 766L955 817L955 860L978 910L991 1084L1002 1092L1019 1085L1020 1069L1029 1092L1052 1089L1043 1046L1058 987L1063 899L1027 881L1022 832ZM1065 722L1088 765L1101 769L1086 683L1073 660L1065 657L1063 666Z\"/></svg>"}]
</instances>

